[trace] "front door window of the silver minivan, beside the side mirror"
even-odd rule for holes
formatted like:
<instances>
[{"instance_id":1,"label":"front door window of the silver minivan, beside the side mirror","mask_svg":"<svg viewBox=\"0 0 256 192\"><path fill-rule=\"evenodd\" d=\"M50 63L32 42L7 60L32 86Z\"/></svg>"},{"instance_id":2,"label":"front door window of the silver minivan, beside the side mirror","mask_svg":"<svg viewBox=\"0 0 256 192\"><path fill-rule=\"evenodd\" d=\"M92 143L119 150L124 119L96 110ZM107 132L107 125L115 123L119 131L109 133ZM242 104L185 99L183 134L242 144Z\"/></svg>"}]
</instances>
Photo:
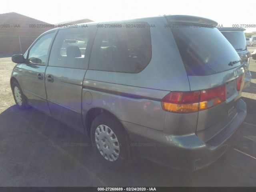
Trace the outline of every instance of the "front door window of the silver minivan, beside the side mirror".
<instances>
[{"instance_id":1,"label":"front door window of the silver minivan, beside the side mirror","mask_svg":"<svg viewBox=\"0 0 256 192\"><path fill-rule=\"evenodd\" d=\"M46 34L42 36L32 46L29 51L28 60L31 64L45 64L48 56L48 50L52 42L54 33Z\"/></svg>"}]
</instances>

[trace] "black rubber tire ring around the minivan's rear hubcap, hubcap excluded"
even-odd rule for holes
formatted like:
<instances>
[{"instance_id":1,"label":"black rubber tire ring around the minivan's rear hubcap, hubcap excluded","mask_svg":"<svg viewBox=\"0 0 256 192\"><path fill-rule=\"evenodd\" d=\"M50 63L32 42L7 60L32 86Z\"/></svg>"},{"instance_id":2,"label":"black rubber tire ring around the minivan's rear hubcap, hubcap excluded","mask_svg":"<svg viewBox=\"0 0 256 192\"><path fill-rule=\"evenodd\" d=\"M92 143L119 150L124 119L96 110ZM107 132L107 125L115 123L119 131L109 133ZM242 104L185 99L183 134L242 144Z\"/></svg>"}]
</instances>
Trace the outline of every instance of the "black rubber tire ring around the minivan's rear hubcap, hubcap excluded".
<instances>
[{"instance_id":1,"label":"black rubber tire ring around the minivan's rear hubcap, hubcap excluded","mask_svg":"<svg viewBox=\"0 0 256 192\"><path fill-rule=\"evenodd\" d=\"M120 154L118 156L118 159L113 162L106 160L100 154L95 143L95 130L101 124L111 128L114 134L116 134L116 137L119 142ZM101 162L103 162L103 164L105 164L106 166L114 170L126 167L128 162L130 161L130 147L129 147L130 142L125 129L123 128L122 124L118 120L116 120L115 118L113 118L108 114L104 114L104 113L100 114L92 121L90 136L92 141L92 147L94 148L94 151L96 152L97 157L101 160Z\"/></svg>"}]
</instances>

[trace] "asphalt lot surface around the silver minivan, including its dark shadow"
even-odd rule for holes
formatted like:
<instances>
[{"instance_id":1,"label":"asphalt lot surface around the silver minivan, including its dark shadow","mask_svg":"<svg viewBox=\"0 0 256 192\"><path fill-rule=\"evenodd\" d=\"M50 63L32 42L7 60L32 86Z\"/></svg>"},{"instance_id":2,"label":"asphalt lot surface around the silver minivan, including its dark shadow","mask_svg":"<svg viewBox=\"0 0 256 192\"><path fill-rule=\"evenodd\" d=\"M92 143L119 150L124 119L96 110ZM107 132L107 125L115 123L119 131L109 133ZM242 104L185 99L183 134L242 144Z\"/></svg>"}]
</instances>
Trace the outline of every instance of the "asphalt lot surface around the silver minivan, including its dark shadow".
<instances>
[{"instance_id":1,"label":"asphalt lot surface around the silver minivan, including its dark shadow","mask_svg":"<svg viewBox=\"0 0 256 192\"><path fill-rule=\"evenodd\" d=\"M148 160L120 171L105 167L83 134L38 110L15 106L9 83L14 65L10 57L0 58L0 186L256 186L255 60L249 66L251 85L243 93L244 123L227 152L196 172Z\"/></svg>"}]
</instances>

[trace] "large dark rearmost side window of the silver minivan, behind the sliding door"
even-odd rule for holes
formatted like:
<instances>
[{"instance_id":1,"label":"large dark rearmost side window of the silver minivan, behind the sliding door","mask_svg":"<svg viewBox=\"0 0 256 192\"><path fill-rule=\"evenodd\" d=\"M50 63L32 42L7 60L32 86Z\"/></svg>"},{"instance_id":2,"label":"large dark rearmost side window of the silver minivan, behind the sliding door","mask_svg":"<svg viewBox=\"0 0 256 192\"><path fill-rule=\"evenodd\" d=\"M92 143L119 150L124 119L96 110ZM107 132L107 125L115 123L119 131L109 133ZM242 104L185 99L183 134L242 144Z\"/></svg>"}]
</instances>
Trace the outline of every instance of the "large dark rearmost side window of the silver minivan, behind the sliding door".
<instances>
[{"instance_id":1,"label":"large dark rearmost side window of the silver minivan, behind the sliding door","mask_svg":"<svg viewBox=\"0 0 256 192\"><path fill-rule=\"evenodd\" d=\"M138 73L151 60L150 28L146 23L122 23L119 28L98 28L89 69Z\"/></svg>"}]
</instances>

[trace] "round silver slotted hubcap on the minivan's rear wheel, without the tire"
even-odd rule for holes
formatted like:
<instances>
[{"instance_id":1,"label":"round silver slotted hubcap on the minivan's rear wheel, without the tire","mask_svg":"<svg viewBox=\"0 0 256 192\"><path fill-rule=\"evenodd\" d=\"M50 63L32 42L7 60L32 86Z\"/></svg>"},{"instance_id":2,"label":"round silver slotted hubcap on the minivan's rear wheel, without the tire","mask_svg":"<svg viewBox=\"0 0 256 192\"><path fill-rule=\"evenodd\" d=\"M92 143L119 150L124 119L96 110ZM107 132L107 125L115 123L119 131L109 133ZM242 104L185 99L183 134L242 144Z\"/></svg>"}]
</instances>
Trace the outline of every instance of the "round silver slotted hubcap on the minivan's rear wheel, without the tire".
<instances>
[{"instance_id":1,"label":"round silver slotted hubcap on the minivan's rear wheel, without the tire","mask_svg":"<svg viewBox=\"0 0 256 192\"><path fill-rule=\"evenodd\" d=\"M95 142L100 154L108 161L119 157L120 148L116 134L106 125L99 125L95 131Z\"/></svg>"}]
</instances>

